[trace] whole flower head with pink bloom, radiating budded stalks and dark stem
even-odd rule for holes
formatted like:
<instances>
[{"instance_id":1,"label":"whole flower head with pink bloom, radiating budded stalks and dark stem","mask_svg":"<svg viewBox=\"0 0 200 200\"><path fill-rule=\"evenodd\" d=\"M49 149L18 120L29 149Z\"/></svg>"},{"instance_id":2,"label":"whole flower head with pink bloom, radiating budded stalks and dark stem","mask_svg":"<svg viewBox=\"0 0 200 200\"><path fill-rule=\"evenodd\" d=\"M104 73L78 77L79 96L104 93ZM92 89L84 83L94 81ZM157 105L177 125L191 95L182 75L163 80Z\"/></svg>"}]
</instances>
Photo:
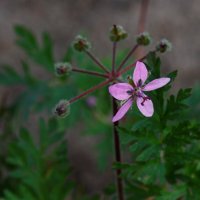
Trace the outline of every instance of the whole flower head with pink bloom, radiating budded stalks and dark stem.
<instances>
[{"instance_id":1,"label":"whole flower head with pink bloom, radiating budded stalks and dark stem","mask_svg":"<svg viewBox=\"0 0 200 200\"><path fill-rule=\"evenodd\" d=\"M98 58L96 58L91 51L89 50L91 45L90 43L82 36L78 36L75 39L74 42L74 49L79 52L85 52L92 61L99 66L105 73L99 73L96 71L90 71L85 69L80 69L78 67L69 67L68 65L56 65L56 72L57 74L67 74L68 71L72 72L78 72L82 74L92 75L94 77L101 77L105 78L103 82L100 82L99 84L89 88L88 90L84 91L83 93L73 97L69 101L61 101L56 106L54 113L60 117L66 116L70 109L70 104L78 101L82 97L85 97L86 95L104 87L112 84L109 87L109 92L112 96L112 110L113 110L113 140L114 140L114 150L115 150L115 162L121 163L121 149L120 149L120 138L118 133L118 125L120 120L126 112L129 110L129 108L132 106L133 100L137 100L137 105L140 111L144 114L144 116L152 116L153 114L153 104L151 102L151 99L147 97L145 94L143 94L143 91L151 91L157 88L160 88L167 84L169 82L169 78L161 78L161 79L155 79L154 81L144 85L144 82L147 79L148 73L147 69L144 65L144 63L138 62L138 65L140 67L137 67L136 61L132 63L131 65L128 65L124 67L128 59L135 53L137 48L140 45L147 45L148 42L148 35L141 35L142 38L140 38L140 41L136 43L135 46L133 46L128 54L125 56L125 58L122 60L121 64L116 68L116 50L117 50L117 43L120 40L123 40L127 37L126 31L123 29L123 27L118 25L113 25L110 32L110 40L113 43L112 47L112 67L111 70L108 70L100 61ZM166 51L170 50L170 43L167 40L162 40L157 46L156 49L152 52L160 52L164 53ZM138 59L137 61L143 61L147 58L149 53ZM120 79L120 76L122 76L125 72L129 71L130 69L133 69L136 66L138 68L135 69L134 72L134 79L129 78L129 83L122 83ZM124 68L123 68L124 67ZM122 69L123 68L123 69ZM141 76L141 77L139 77ZM138 78L139 77L139 78ZM120 82L120 83L118 83ZM117 101L118 100L126 100L126 102L121 106L121 108L118 110ZM146 113L145 108L148 107L148 113ZM122 169L116 169L116 189L118 194L118 200L124 200L124 189L123 189L123 180L122 180Z\"/></svg>"}]
</instances>

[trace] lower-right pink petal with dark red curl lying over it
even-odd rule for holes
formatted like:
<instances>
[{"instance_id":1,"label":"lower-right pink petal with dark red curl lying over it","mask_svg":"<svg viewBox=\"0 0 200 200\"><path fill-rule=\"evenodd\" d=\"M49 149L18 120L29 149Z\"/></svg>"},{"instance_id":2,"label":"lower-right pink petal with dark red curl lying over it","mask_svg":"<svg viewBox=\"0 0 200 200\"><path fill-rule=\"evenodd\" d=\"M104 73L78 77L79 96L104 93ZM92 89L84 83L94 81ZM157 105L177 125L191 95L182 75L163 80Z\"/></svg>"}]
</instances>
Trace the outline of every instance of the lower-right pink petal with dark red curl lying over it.
<instances>
[{"instance_id":1,"label":"lower-right pink petal with dark red curl lying over it","mask_svg":"<svg viewBox=\"0 0 200 200\"><path fill-rule=\"evenodd\" d=\"M143 97L147 97L143 93ZM137 97L137 107L140 110L140 112L145 116L145 117L151 117L154 113L154 107L153 103L150 99L144 99L142 97Z\"/></svg>"}]
</instances>

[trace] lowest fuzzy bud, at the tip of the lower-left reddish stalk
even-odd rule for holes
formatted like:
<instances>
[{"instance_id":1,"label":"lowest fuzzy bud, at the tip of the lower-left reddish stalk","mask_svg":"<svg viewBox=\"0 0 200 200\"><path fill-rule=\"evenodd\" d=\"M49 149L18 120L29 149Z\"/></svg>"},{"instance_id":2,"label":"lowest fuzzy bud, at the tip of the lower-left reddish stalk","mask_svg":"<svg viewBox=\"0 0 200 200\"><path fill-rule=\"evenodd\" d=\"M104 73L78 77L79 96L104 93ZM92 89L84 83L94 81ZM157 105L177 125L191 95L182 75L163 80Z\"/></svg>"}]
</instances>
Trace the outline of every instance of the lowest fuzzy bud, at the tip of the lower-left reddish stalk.
<instances>
[{"instance_id":1,"label":"lowest fuzzy bud, at the tip of the lower-left reddish stalk","mask_svg":"<svg viewBox=\"0 0 200 200\"><path fill-rule=\"evenodd\" d=\"M67 100L60 100L59 103L55 106L53 113L57 117L67 117L70 113L70 103Z\"/></svg>"}]
</instances>

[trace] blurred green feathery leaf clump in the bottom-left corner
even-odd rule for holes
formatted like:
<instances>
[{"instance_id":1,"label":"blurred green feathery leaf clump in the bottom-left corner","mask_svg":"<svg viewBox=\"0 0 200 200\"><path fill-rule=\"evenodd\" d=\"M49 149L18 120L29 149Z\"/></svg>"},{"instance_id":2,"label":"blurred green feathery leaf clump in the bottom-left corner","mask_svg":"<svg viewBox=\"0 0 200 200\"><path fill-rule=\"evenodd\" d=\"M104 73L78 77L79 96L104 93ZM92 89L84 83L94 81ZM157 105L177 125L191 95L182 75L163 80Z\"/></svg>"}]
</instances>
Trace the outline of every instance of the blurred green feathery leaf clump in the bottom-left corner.
<instances>
[{"instance_id":1,"label":"blurred green feathery leaf clump in the bottom-left corner","mask_svg":"<svg viewBox=\"0 0 200 200\"><path fill-rule=\"evenodd\" d=\"M56 120L39 121L38 142L21 128L9 149L9 176L13 182L5 190L7 200L66 199L73 188L69 179L65 132L59 131ZM35 134L34 134L35 135Z\"/></svg>"}]
</instances>

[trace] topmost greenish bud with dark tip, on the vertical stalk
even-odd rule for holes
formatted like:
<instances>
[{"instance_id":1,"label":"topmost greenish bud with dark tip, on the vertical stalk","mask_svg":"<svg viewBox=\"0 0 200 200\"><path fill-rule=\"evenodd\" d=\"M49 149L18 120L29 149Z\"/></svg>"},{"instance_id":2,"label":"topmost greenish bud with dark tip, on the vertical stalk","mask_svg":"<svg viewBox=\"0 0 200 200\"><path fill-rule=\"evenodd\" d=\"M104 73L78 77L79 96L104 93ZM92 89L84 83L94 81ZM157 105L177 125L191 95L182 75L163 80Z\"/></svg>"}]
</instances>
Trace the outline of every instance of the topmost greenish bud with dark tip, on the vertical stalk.
<instances>
[{"instance_id":1,"label":"topmost greenish bud with dark tip, on the vertical stalk","mask_svg":"<svg viewBox=\"0 0 200 200\"><path fill-rule=\"evenodd\" d=\"M113 25L110 30L110 40L113 42L118 42L127 38L128 34L124 28L120 25Z\"/></svg>"}]
</instances>

